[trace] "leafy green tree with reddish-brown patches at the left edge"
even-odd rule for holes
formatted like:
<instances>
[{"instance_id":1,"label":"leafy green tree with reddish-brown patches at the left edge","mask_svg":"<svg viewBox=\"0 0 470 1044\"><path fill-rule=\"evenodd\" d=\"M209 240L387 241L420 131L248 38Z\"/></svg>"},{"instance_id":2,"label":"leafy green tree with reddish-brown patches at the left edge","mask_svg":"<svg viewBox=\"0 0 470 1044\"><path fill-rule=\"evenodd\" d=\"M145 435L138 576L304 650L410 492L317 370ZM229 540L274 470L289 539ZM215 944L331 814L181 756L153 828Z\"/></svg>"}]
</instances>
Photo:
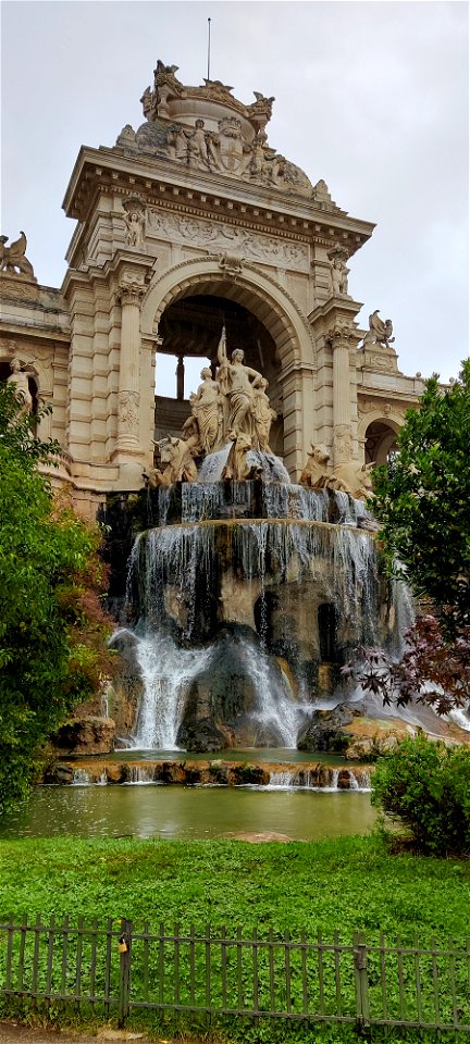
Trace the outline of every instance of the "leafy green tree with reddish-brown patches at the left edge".
<instances>
[{"instance_id":1,"label":"leafy green tree with reddish-brown patches at the left edge","mask_svg":"<svg viewBox=\"0 0 470 1044\"><path fill-rule=\"evenodd\" d=\"M101 537L55 500L39 464L59 447L0 385L0 811L27 793L38 749L109 668Z\"/></svg>"}]
</instances>

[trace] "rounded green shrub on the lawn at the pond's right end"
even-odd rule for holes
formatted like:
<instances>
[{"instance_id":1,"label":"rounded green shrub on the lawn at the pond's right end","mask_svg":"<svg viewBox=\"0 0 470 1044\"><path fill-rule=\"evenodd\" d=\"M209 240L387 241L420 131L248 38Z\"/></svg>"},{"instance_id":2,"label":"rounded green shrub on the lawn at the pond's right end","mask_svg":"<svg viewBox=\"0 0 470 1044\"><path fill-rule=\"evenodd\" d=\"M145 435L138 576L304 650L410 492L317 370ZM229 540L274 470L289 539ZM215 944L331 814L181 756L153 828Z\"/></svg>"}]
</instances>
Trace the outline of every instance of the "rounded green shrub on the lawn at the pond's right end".
<instances>
[{"instance_id":1,"label":"rounded green shrub on the lawn at the pond's right end","mask_svg":"<svg viewBox=\"0 0 470 1044\"><path fill-rule=\"evenodd\" d=\"M411 832L423 853L470 854L470 749L419 734L379 759L372 803Z\"/></svg>"}]
</instances>

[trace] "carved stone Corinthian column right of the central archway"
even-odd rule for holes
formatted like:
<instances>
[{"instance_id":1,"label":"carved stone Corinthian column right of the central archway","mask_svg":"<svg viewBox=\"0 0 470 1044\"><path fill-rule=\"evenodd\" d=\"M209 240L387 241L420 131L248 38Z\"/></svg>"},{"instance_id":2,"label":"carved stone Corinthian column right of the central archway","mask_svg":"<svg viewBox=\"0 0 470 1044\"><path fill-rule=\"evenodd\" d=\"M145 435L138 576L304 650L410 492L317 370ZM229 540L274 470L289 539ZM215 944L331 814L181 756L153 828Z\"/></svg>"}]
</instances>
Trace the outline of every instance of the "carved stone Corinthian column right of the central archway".
<instances>
[{"instance_id":1,"label":"carved stone Corinthian column right of the central archway","mask_svg":"<svg viewBox=\"0 0 470 1044\"><path fill-rule=\"evenodd\" d=\"M333 349L333 468L352 458L349 351L355 347L354 327L337 323L329 331Z\"/></svg>"}]
</instances>

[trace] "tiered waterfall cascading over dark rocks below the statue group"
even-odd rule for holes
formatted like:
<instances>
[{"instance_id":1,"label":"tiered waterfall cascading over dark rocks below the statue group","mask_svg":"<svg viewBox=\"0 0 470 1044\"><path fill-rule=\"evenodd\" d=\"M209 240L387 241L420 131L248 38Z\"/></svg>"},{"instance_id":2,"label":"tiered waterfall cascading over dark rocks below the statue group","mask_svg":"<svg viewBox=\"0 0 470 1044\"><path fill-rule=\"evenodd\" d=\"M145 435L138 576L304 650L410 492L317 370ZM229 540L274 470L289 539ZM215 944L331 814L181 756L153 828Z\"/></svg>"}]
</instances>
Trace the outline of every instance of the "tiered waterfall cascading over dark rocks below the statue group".
<instances>
[{"instance_id":1,"label":"tiered waterfall cascading over dark rocks below the statue group","mask_svg":"<svg viewBox=\"0 0 470 1044\"><path fill-rule=\"evenodd\" d=\"M248 458L262 478L223 481L228 450L206 457L198 482L157 489L134 544L113 639L140 679L134 748L294 748L332 695L322 662L380 641L362 501L294 485L260 451Z\"/></svg>"}]
</instances>

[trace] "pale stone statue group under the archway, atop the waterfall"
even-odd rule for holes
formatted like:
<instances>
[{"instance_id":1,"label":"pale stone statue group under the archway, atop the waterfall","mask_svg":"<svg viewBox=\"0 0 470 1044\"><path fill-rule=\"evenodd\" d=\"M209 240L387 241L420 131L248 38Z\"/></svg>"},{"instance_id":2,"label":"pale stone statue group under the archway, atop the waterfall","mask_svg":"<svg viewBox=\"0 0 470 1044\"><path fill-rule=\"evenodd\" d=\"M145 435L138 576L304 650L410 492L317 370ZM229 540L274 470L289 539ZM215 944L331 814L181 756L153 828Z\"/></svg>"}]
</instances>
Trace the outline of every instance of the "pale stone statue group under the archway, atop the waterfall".
<instances>
[{"instance_id":1,"label":"pale stone statue group under the archway, atop the waterfall","mask_svg":"<svg viewBox=\"0 0 470 1044\"><path fill-rule=\"evenodd\" d=\"M152 470L147 482L151 487L173 482L196 482L195 458L222 449L232 443L222 474L223 478L256 478L259 468L249 464L250 450L271 453L271 424L276 418L267 388L268 381L258 370L244 363L244 352L236 348L228 360L225 328L218 348L215 377L207 366L201 371L197 391L189 397L191 412L183 425L182 437L166 436L156 443L163 471Z\"/></svg>"}]
</instances>

